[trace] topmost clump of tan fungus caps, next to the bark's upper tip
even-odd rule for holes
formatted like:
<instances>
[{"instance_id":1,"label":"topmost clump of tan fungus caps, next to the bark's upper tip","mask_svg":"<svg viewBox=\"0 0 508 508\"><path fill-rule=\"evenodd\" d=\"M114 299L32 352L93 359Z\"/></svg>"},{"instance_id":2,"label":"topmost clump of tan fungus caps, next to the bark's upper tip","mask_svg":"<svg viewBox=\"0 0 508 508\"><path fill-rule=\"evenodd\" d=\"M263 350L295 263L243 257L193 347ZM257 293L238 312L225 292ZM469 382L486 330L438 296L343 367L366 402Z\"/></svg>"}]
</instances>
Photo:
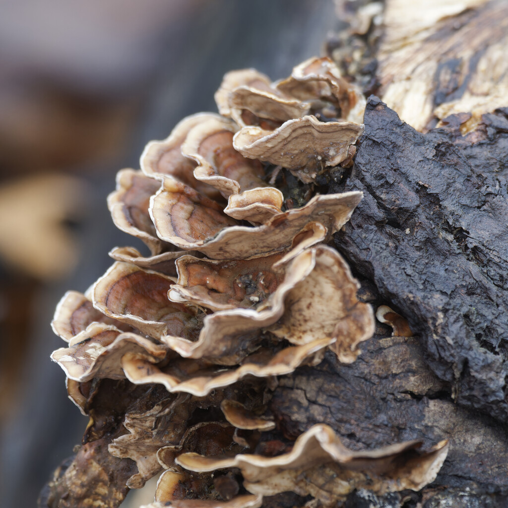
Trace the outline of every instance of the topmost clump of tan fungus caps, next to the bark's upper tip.
<instances>
[{"instance_id":1,"label":"topmost clump of tan fungus caps, next to the bark's upper tip","mask_svg":"<svg viewBox=\"0 0 508 508\"><path fill-rule=\"evenodd\" d=\"M219 111L242 126L234 137L240 153L288 168L305 183L323 167L344 161L363 132L365 98L327 57L310 58L278 83L249 71L226 75L216 101ZM342 121L321 122L312 115L321 116L327 104L327 114Z\"/></svg>"}]
</instances>

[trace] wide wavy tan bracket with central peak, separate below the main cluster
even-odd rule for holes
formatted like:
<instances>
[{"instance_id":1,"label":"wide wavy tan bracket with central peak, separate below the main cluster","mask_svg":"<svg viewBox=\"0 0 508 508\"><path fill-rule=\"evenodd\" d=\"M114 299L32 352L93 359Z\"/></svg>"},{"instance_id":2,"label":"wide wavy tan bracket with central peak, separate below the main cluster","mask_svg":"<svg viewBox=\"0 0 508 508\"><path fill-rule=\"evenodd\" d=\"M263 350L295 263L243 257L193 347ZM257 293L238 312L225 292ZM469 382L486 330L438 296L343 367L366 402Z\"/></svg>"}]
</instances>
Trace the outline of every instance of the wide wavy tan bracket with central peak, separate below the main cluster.
<instances>
[{"instance_id":1,"label":"wide wavy tan bracket with central peak, separate below the main cluster","mask_svg":"<svg viewBox=\"0 0 508 508\"><path fill-rule=\"evenodd\" d=\"M377 494L420 490L432 482L448 453L441 441L428 452L419 442L407 441L377 450L353 452L343 446L327 425L315 425L296 440L291 452L276 457L236 455L205 457L185 453L176 462L192 471L238 467L244 487L253 494L294 491L312 495L325 506L335 506L354 489Z\"/></svg>"}]
</instances>

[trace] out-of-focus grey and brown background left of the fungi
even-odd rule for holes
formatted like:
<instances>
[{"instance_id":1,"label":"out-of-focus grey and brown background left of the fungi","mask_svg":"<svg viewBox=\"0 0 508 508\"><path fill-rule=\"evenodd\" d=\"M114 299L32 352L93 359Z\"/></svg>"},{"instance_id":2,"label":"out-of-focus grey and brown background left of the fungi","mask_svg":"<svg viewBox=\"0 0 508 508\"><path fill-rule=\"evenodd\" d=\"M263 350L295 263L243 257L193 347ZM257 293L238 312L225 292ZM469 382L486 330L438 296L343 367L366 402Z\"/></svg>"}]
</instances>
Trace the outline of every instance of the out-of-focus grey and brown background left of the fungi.
<instances>
[{"instance_id":1,"label":"out-of-focus grey and brown background left of the fungi","mask_svg":"<svg viewBox=\"0 0 508 508\"><path fill-rule=\"evenodd\" d=\"M216 111L223 74L272 79L321 53L332 0L0 0L0 504L36 506L87 419L49 359L49 323L134 245L106 207L151 139ZM149 502L143 491L122 506Z\"/></svg>"}]
</instances>

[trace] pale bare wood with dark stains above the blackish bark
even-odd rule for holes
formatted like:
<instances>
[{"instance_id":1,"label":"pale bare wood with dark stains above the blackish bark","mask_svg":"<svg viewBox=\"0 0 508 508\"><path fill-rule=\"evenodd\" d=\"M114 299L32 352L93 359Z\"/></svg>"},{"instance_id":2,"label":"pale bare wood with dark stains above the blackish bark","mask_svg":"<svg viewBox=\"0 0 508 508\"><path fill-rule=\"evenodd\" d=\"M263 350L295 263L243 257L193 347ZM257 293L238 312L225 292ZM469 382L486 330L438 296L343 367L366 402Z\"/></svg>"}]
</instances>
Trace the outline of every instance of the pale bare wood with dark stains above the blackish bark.
<instances>
[{"instance_id":1,"label":"pale bare wood with dark stains above the blackish bark","mask_svg":"<svg viewBox=\"0 0 508 508\"><path fill-rule=\"evenodd\" d=\"M508 100L508 3L388 0L378 51L378 95L419 131L434 117L483 113ZM434 121L435 123L435 121Z\"/></svg>"}]
</instances>

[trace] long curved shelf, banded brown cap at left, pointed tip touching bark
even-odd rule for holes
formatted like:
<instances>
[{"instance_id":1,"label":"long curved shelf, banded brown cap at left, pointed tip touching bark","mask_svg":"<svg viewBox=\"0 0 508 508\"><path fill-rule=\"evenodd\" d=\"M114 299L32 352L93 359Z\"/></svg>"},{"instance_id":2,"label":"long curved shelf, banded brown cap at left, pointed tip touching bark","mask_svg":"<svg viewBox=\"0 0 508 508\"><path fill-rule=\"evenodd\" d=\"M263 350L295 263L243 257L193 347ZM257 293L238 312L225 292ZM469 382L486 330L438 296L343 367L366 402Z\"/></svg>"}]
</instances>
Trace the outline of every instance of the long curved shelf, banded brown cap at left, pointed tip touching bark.
<instances>
[{"instance_id":1,"label":"long curved shelf, banded brown cap at left, pointed tip touching bark","mask_svg":"<svg viewBox=\"0 0 508 508\"><path fill-rule=\"evenodd\" d=\"M217 209L215 202L175 180L165 179L152 198L150 214L158 236L181 249L199 250L212 259L248 259L288 249L311 222L338 231L362 199L361 192L314 196L301 208L272 215L250 228Z\"/></svg>"}]
</instances>

